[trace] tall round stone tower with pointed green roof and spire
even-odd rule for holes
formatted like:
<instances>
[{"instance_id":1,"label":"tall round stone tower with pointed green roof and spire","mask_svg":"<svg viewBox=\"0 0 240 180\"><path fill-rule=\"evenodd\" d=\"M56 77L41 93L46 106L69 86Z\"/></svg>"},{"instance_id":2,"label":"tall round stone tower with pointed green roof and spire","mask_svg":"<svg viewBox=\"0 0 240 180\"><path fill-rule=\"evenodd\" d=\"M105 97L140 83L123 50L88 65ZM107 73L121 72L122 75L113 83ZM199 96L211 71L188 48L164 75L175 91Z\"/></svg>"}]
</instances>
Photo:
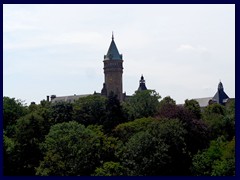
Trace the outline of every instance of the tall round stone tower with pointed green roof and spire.
<instances>
[{"instance_id":1,"label":"tall round stone tower with pointed green roof and spire","mask_svg":"<svg viewBox=\"0 0 240 180\"><path fill-rule=\"evenodd\" d=\"M103 83L101 94L108 96L111 92L113 92L117 95L118 99L122 101L123 59L122 54L119 54L118 52L113 35L108 52L104 55L103 63L105 82Z\"/></svg>"}]
</instances>

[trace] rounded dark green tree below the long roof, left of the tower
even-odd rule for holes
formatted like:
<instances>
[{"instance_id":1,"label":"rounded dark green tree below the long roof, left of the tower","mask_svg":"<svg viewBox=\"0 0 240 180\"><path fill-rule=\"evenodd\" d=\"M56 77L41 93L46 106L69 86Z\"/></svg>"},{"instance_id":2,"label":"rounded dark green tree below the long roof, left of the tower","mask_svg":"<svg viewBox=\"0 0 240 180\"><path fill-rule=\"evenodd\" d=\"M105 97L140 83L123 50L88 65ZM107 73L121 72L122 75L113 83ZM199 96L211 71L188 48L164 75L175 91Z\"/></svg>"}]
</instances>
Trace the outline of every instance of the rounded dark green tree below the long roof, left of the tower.
<instances>
[{"instance_id":1,"label":"rounded dark green tree below the long roof, left of the tower","mask_svg":"<svg viewBox=\"0 0 240 180\"><path fill-rule=\"evenodd\" d=\"M73 120L84 124L102 124L106 117L107 99L91 95L78 99L73 104Z\"/></svg>"}]
</instances>

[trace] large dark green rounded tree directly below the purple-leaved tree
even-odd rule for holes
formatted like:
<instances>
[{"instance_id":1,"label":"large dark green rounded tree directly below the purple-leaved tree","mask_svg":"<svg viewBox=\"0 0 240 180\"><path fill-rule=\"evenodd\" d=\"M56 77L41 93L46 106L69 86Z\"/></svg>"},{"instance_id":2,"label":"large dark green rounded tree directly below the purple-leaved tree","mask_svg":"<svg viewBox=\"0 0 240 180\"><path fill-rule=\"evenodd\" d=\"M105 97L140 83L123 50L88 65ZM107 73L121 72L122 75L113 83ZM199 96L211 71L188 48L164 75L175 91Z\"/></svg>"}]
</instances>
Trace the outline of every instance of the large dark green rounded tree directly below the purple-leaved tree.
<instances>
[{"instance_id":1,"label":"large dark green rounded tree directly below the purple-leaved tree","mask_svg":"<svg viewBox=\"0 0 240 180\"><path fill-rule=\"evenodd\" d=\"M128 175L183 175L187 171L185 134L178 120L154 122L134 134L118 155Z\"/></svg>"}]
</instances>

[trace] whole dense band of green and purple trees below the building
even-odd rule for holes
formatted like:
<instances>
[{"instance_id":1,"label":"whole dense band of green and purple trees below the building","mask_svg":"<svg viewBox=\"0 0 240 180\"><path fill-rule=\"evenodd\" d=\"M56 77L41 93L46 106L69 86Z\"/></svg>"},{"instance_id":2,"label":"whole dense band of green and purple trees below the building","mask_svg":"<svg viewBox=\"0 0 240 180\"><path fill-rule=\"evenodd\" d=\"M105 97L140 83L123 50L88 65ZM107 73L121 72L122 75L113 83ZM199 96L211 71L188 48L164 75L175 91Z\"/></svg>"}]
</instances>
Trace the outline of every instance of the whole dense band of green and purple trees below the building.
<instances>
[{"instance_id":1,"label":"whole dense band of green and purple trees below the building","mask_svg":"<svg viewBox=\"0 0 240 180\"><path fill-rule=\"evenodd\" d=\"M235 175L235 102L136 91L26 106L3 98L4 175Z\"/></svg>"}]
</instances>

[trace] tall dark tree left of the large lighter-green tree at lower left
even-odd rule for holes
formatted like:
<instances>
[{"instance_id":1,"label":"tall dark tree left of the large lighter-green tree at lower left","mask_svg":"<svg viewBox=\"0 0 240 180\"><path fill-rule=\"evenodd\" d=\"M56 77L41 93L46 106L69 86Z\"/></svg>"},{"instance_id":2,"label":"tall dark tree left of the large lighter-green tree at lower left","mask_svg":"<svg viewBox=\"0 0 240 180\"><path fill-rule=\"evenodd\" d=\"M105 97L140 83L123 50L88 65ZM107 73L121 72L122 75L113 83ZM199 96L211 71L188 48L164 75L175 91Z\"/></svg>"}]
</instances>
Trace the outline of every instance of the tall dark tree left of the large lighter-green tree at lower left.
<instances>
[{"instance_id":1,"label":"tall dark tree left of the large lighter-green tree at lower left","mask_svg":"<svg viewBox=\"0 0 240 180\"><path fill-rule=\"evenodd\" d=\"M39 144L44 140L48 130L44 119L36 113L21 117L16 124L14 175L34 175L35 167L42 158Z\"/></svg>"}]
</instances>

